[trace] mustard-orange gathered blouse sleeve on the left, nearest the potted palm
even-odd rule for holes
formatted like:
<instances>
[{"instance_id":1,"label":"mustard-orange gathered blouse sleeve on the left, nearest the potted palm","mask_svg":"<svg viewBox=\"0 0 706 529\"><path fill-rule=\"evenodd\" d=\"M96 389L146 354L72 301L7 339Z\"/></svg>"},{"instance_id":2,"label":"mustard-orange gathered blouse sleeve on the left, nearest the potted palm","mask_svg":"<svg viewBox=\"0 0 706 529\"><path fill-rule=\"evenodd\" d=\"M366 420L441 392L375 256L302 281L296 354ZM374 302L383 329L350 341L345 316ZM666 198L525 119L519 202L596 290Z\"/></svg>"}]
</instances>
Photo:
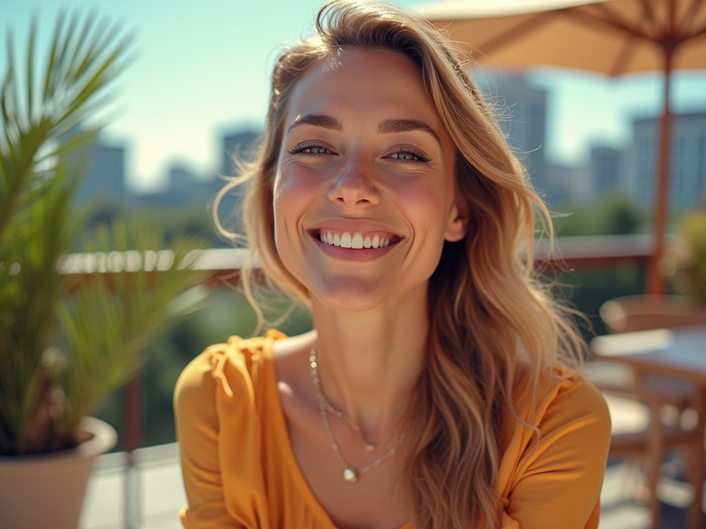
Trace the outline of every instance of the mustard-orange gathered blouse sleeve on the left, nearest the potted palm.
<instances>
[{"instance_id":1,"label":"mustard-orange gathered blouse sleeve on the left, nearest the potted palm","mask_svg":"<svg viewBox=\"0 0 706 529\"><path fill-rule=\"evenodd\" d=\"M250 359L238 340L198 355L174 390L186 529L269 527Z\"/></svg>"}]
</instances>

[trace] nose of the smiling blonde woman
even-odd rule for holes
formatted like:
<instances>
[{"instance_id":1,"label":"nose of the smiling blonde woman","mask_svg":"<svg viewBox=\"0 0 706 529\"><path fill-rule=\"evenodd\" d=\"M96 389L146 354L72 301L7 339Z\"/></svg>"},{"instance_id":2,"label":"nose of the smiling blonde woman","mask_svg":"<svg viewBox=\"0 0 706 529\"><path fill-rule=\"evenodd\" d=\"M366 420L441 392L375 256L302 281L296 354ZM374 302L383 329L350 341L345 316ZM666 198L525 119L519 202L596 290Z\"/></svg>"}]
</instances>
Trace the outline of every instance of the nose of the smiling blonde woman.
<instances>
[{"instance_id":1,"label":"nose of the smiling blonde woman","mask_svg":"<svg viewBox=\"0 0 706 529\"><path fill-rule=\"evenodd\" d=\"M373 173L375 168L359 157L342 166L331 184L328 197L347 207L372 207L380 203L381 193Z\"/></svg>"}]
</instances>

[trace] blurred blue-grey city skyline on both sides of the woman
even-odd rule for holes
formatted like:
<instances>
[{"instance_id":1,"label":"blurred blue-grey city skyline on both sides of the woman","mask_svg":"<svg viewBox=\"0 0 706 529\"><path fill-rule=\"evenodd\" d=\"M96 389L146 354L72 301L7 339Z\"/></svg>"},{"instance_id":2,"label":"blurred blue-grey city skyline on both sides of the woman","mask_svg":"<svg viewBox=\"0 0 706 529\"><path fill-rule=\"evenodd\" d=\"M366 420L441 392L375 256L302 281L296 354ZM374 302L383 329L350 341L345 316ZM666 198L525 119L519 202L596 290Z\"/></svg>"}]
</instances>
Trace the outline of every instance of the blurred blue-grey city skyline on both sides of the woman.
<instances>
[{"instance_id":1,"label":"blurred blue-grey city skyline on both sides of the woman","mask_svg":"<svg viewBox=\"0 0 706 529\"><path fill-rule=\"evenodd\" d=\"M534 187L550 207L596 203L618 193L629 197L636 207L650 209L658 119L634 119L630 142L621 149L592 147L589 159L582 165L554 164L544 159L542 150L537 150L537 145L544 141L546 92L527 87L521 77L508 80L504 86L506 91L496 93L496 100L510 105L512 111L508 111L501 126L508 135L510 147L527 164ZM237 176L232 155L248 160L259 140L256 130L232 130L220 138L218 171L198 174L184 164L170 164L165 186L160 190L135 193L124 185L125 148L106 144L98 138L86 159L88 171L78 190L77 203L98 199L113 205L205 206L225 183L218 175ZM672 140L670 209L683 212L706 203L706 111L675 114ZM229 202L237 201L235 195ZM234 205L232 202L224 209L232 211Z\"/></svg>"}]
</instances>

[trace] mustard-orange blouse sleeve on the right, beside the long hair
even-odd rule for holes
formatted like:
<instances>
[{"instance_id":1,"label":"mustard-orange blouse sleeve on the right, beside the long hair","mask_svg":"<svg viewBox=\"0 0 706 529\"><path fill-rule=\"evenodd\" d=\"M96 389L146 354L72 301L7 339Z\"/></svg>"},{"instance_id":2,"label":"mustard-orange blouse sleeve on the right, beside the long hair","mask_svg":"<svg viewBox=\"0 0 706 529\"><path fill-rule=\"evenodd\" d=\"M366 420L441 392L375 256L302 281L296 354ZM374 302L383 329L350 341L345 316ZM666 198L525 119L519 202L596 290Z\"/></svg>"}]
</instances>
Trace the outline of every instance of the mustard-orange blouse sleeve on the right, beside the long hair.
<instances>
[{"instance_id":1,"label":"mustard-orange blouse sleeve on the right, beside the long hair","mask_svg":"<svg viewBox=\"0 0 706 529\"><path fill-rule=\"evenodd\" d=\"M526 406L524 413L516 409L530 422ZM603 396L571 377L551 387L536 409L531 423L539 442L515 420L501 462L502 528L596 529L611 435Z\"/></svg>"}]
</instances>

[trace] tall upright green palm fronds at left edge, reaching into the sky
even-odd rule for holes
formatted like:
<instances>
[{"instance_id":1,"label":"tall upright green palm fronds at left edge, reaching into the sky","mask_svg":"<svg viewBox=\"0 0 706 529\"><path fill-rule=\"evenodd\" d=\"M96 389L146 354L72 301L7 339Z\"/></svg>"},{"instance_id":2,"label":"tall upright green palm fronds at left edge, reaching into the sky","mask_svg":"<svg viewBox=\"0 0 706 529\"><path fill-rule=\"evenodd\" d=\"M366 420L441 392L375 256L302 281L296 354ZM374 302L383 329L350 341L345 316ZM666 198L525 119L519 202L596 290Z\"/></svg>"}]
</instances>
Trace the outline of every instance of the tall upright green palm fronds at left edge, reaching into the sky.
<instances>
[{"instance_id":1,"label":"tall upright green palm fronds at left edge, reaching into the sky","mask_svg":"<svg viewBox=\"0 0 706 529\"><path fill-rule=\"evenodd\" d=\"M71 154L97 132L83 121L104 103L129 45L119 28L106 33L95 17L82 22L78 12L70 19L62 14L44 69L35 75L37 28L33 19L24 76L8 32L0 83L0 454L53 446L26 441L42 437L32 428L49 374L43 358L58 336L56 311L70 286L56 262L71 251L88 218L73 205L82 171L70 163Z\"/></svg>"}]
</instances>

